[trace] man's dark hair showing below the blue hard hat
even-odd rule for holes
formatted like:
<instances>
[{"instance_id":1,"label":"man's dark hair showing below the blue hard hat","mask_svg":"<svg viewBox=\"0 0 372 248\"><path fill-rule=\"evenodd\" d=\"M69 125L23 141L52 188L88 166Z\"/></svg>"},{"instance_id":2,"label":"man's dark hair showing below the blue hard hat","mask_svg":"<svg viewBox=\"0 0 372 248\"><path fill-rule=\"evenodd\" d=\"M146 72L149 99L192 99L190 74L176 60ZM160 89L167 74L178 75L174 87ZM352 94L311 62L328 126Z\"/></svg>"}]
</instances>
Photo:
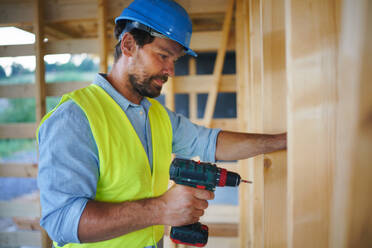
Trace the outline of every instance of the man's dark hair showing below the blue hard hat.
<instances>
[{"instance_id":1,"label":"man's dark hair showing below the blue hard hat","mask_svg":"<svg viewBox=\"0 0 372 248\"><path fill-rule=\"evenodd\" d=\"M115 38L119 39L119 36L123 32L125 28L126 21L118 21L115 25ZM131 35L133 35L134 40L136 41L137 45L139 47L143 47L146 44L149 44L154 41L154 36L150 35L148 32L134 28L129 32ZM120 47L121 40L116 44L115 51L114 51L114 59L115 62L120 58L121 56L121 47Z\"/></svg>"}]
</instances>

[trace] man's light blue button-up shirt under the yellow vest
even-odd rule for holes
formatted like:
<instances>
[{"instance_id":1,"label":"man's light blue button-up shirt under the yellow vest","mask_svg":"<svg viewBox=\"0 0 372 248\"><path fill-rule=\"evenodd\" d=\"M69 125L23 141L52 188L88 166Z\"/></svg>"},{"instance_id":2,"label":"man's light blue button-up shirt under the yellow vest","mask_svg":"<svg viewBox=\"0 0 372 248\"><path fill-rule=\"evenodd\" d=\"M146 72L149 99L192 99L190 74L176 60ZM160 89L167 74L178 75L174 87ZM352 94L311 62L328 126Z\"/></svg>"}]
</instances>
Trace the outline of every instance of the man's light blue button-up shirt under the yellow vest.
<instances>
[{"instance_id":1,"label":"man's light blue button-up shirt under the yellow vest","mask_svg":"<svg viewBox=\"0 0 372 248\"><path fill-rule=\"evenodd\" d=\"M102 87L123 109L136 130L152 167L151 130L144 98L134 104L123 97L98 74L93 81ZM172 124L172 152L177 157L200 156L215 161L219 129L208 129L191 123L186 117L166 109ZM41 226L63 246L80 243L78 224L88 200L94 199L99 178L98 149L88 119L78 105L69 100L39 129L39 175Z\"/></svg>"}]
</instances>

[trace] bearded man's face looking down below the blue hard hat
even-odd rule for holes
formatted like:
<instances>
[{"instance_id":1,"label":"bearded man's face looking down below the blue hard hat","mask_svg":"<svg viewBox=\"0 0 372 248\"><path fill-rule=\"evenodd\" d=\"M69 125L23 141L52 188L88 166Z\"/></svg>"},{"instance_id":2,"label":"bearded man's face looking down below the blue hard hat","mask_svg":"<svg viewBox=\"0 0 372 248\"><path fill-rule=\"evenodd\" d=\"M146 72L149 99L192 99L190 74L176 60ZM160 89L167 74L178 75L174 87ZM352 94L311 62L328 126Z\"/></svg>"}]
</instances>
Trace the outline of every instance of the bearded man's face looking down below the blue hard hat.
<instances>
[{"instance_id":1,"label":"bearded man's face looking down below the blue hard hat","mask_svg":"<svg viewBox=\"0 0 372 248\"><path fill-rule=\"evenodd\" d=\"M137 48L129 82L139 95L157 97L168 77L174 76L174 62L183 54L183 48L175 41L162 38Z\"/></svg>"}]
</instances>

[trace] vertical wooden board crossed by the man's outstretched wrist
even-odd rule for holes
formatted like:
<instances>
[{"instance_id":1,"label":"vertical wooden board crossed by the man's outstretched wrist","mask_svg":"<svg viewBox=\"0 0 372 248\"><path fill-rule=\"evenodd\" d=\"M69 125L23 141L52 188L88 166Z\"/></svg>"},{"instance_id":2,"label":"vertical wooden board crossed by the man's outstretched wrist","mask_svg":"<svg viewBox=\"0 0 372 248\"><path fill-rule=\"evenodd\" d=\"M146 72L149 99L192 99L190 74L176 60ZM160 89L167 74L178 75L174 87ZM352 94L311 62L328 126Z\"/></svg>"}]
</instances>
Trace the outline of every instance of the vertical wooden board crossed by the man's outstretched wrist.
<instances>
[{"instance_id":1,"label":"vertical wooden board crossed by the man's outstretched wrist","mask_svg":"<svg viewBox=\"0 0 372 248\"><path fill-rule=\"evenodd\" d=\"M284 0L262 1L264 133L286 131ZM264 245L287 247L287 152L264 156Z\"/></svg>"}]
</instances>

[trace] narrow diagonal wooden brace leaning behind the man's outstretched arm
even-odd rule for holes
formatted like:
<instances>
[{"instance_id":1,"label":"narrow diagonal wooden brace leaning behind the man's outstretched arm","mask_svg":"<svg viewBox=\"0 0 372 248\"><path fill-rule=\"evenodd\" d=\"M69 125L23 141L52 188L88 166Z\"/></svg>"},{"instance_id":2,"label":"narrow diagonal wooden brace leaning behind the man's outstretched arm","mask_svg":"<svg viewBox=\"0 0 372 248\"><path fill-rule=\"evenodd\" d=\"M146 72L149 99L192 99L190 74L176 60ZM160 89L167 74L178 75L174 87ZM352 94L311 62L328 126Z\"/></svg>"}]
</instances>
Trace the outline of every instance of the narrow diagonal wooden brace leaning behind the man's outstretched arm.
<instances>
[{"instance_id":1,"label":"narrow diagonal wooden brace leaning behind the man's outstretched arm","mask_svg":"<svg viewBox=\"0 0 372 248\"><path fill-rule=\"evenodd\" d=\"M220 79L222 75L223 64L225 60L227 41L230 35L230 24L232 19L232 14L234 10L234 0L229 0L227 13L225 15L223 27L222 27L222 39L221 45L217 52L216 62L213 69L213 83L212 87L209 89L207 105L204 112L203 124L207 127L210 126L211 120L213 118L213 113L216 105L218 88L220 84Z\"/></svg>"}]
</instances>

